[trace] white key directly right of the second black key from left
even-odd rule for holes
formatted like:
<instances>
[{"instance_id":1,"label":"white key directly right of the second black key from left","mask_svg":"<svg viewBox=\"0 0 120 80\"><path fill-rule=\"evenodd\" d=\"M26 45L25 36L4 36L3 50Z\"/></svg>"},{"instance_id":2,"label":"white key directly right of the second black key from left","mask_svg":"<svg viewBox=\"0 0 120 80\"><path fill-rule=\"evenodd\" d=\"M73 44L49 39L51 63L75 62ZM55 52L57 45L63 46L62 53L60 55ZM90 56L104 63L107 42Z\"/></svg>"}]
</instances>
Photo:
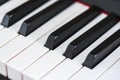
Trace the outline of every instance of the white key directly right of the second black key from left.
<instances>
[{"instance_id":1,"label":"white key directly right of the second black key from left","mask_svg":"<svg viewBox=\"0 0 120 80\"><path fill-rule=\"evenodd\" d=\"M80 8L81 8L81 6L78 3L75 3L74 5L72 5L71 7L69 7L68 9L66 9L65 11L63 11L62 13L60 13L53 19L51 19L49 22L47 22L46 24L41 26L39 29L37 29L36 31L31 33L29 36L27 36L27 37L19 36L19 37L15 38L14 40L12 40L11 42L9 42L4 47L2 47L0 49L0 51L4 52L4 54L0 55L0 61L1 61L0 68L3 66L2 69L5 70L5 68L6 68L5 63L7 63L13 57L18 55L23 50L25 50L27 47L32 45L37 39L39 39L42 36L44 36L45 34L47 34L50 30L52 30L56 27L59 28L60 23L65 24L65 23L69 22L72 19L72 17L70 17L70 16L75 14ZM73 15L73 16L75 17L75 15ZM56 23L54 23L54 22L56 22ZM6 72L6 71L4 71L4 72ZM1 72L1 73L3 73L3 72Z\"/></svg>"}]
</instances>

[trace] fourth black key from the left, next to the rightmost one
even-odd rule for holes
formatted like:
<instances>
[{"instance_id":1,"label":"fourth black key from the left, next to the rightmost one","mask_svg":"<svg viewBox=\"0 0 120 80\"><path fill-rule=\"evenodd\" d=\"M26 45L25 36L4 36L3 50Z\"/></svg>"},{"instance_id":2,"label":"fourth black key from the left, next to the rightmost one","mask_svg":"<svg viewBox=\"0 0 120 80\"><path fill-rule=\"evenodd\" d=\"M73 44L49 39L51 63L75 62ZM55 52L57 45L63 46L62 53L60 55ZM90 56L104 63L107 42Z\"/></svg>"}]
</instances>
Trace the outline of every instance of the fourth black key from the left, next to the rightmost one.
<instances>
[{"instance_id":1,"label":"fourth black key from the left, next to the rightmost one","mask_svg":"<svg viewBox=\"0 0 120 80\"><path fill-rule=\"evenodd\" d=\"M91 45L95 40L102 36L106 31L112 28L119 21L119 17L110 14L103 21L89 29L87 32L79 36L77 39L72 41L67 50L64 53L64 56L67 58L73 59L85 48Z\"/></svg>"}]
</instances>

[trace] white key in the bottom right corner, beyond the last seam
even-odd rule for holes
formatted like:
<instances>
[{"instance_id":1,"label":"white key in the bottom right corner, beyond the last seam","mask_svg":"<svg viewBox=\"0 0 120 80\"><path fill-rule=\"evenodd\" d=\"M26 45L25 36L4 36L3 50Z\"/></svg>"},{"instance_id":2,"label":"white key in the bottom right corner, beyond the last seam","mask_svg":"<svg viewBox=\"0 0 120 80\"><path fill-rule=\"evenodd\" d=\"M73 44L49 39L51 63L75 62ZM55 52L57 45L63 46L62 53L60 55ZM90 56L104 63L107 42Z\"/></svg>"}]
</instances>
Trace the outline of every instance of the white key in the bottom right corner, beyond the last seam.
<instances>
[{"instance_id":1,"label":"white key in the bottom right corner, beyond the last seam","mask_svg":"<svg viewBox=\"0 0 120 80\"><path fill-rule=\"evenodd\" d=\"M119 49L120 51L120 49ZM118 51L118 53L119 53ZM113 66L108 69L100 78L97 80L120 80L120 60L113 64Z\"/></svg>"}]
</instances>

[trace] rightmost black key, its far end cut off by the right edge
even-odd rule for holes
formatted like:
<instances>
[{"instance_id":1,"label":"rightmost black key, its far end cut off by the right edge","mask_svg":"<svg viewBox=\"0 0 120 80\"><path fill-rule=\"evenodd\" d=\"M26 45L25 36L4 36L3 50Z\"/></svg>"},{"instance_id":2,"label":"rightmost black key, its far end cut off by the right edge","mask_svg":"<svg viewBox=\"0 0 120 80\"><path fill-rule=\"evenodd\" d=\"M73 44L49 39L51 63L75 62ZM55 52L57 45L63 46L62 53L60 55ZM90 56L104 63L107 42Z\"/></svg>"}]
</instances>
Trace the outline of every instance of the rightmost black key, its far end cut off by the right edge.
<instances>
[{"instance_id":1,"label":"rightmost black key, its far end cut off by the right edge","mask_svg":"<svg viewBox=\"0 0 120 80\"><path fill-rule=\"evenodd\" d=\"M94 68L109 54L111 54L118 46L120 46L120 30L118 30L103 43L97 46L93 51L91 51L83 65L90 69Z\"/></svg>"}]
</instances>

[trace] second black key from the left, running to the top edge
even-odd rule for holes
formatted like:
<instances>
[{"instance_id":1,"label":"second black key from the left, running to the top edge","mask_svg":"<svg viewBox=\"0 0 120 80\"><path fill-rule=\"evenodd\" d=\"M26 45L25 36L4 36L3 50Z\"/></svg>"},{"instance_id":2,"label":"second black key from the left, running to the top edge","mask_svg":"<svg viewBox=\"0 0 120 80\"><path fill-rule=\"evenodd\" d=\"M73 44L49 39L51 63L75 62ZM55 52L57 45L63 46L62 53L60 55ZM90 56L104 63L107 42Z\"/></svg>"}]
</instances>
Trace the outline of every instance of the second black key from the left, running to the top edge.
<instances>
[{"instance_id":1,"label":"second black key from the left, running to the top edge","mask_svg":"<svg viewBox=\"0 0 120 80\"><path fill-rule=\"evenodd\" d=\"M60 0L54 3L53 5L26 20L22 24L19 33L27 36L73 3L74 0Z\"/></svg>"}]
</instances>

